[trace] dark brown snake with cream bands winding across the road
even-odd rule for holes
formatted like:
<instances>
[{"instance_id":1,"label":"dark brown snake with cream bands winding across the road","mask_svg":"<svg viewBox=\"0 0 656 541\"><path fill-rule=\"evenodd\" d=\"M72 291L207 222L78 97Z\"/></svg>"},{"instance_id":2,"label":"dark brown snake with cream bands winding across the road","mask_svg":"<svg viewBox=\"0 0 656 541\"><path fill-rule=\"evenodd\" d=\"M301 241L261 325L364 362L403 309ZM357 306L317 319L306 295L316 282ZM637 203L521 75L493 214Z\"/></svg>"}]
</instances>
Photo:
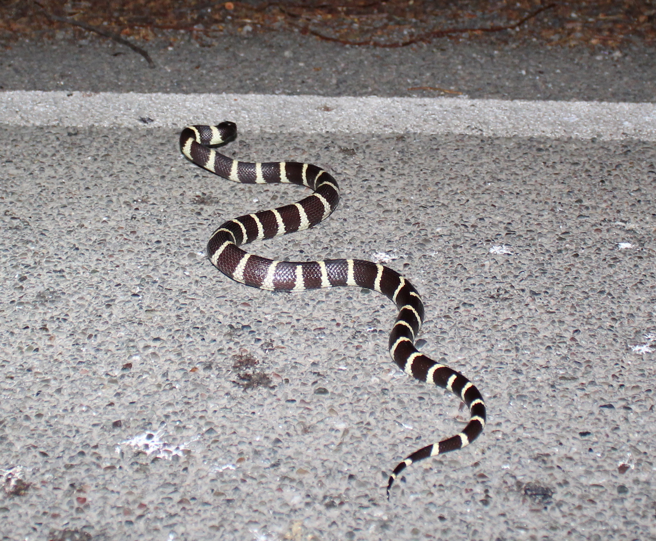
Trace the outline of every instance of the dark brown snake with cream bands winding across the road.
<instances>
[{"instance_id":1,"label":"dark brown snake with cream bands winding across the road","mask_svg":"<svg viewBox=\"0 0 656 541\"><path fill-rule=\"evenodd\" d=\"M333 259L325 261L272 261L248 254L240 245L271 239L316 226L327 218L339 201L335 179L316 165L297 162L246 163L224 156L209 147L220 146L237 136L237 126L190 126L180 134L182 153L195 164L234 182L245 184L289 183L307 186L312 195L278 209L262 210L228 220L212 233L207 257L228 277L270 291L305 291L320 287L351 285L373 289L390 298L399 309L390 333L389 349L394 362L406 374L453 392L469 408L471 418L461 433L413 452L400 462L387 484L413 462L468 445L485 426L481 393L459 372L432 361L415 349L414 342L424 318L424 305L417 290L398 272L370 261Z\"/></svg>"}]
</instances>

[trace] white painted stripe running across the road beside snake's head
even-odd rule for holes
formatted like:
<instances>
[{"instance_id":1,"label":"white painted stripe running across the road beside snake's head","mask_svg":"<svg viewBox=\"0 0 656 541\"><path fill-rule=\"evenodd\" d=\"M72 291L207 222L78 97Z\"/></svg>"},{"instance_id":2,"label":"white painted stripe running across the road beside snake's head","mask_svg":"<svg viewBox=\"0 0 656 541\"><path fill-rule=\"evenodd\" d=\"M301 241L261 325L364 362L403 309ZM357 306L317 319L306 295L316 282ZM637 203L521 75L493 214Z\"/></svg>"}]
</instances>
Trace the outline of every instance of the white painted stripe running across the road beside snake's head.
<instances>
[{"instance_id":1,"label":"white painted stripe running across the road beside snake's head","mask_svg":"<svg viewBox=\"0 0 656 541\"><path fill-rule=\"evenodd\" d=\"M656 104L261 94L0 92L0 123L174 127L232 120L250 132L467 134L656 140Z\"/></svg>"}]
</instances>

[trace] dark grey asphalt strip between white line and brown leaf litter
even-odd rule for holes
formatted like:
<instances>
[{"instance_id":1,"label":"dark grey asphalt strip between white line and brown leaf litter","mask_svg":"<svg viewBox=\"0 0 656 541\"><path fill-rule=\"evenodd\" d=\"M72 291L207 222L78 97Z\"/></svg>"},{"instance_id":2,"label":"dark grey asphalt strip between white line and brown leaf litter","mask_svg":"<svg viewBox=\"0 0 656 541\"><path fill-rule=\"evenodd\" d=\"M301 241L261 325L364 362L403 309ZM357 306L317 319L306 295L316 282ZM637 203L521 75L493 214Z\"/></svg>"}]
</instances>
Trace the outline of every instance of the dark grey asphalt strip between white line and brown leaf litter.
<instances>
[{"instance_id":1,"label":"dark grey asphalt strip between white line and brown leaf litter","mask_svg":"<svg viewBox=\"0 0 656 541\"><path fill-rule=\"evenodd\" d=\"M209 47L182 36L141 45L155 68L133 50L93 37L18 43L0 56L0 87L426 98L443 89L502 100L656 101L654 50L637 44L568 49L443 39L380 49L274 32L216 37Z\"/></svg>"}]
</instances>

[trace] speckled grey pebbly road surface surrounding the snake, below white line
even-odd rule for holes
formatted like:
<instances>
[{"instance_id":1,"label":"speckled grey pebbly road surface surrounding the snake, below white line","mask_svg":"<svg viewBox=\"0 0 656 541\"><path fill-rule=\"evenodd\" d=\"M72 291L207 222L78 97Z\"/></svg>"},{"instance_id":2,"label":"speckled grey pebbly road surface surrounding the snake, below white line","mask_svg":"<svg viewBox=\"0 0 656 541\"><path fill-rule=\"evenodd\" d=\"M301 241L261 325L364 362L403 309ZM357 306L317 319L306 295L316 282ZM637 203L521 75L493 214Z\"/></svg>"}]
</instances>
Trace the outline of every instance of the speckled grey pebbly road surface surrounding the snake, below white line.
<instances>
[{"instance_id":1,"label":"speckled grey pebbly road surface surrounding the snake, below white line","mask_svg":"<svg viewBox=\"0 0 656 541\"><path fill-rule=\"evenodd\" d=\"M422 350L486 398L482 437L388 502L391 468L467 418L392 365L392 304L258 291L203 253L306 191L215 177L172 129L0 137L0 539L656 539L653 143L243 127L226 148L342 187L251 251L389 261Z\"/></svg>"}]
</instances>

